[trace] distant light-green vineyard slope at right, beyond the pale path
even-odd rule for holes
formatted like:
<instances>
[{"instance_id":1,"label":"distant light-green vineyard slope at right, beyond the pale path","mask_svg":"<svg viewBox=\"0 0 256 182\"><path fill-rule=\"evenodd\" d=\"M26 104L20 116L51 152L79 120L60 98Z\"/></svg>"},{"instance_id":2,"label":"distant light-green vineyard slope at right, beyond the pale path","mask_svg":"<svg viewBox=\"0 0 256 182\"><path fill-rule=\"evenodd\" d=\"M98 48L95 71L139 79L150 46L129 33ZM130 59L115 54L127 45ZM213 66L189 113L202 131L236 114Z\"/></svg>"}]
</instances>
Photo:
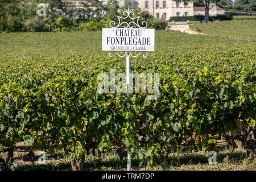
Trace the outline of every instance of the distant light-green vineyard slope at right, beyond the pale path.
<instances>
[{"instance_id":1,"label":"distant light-green vineyard slope at right, beyond the pale path","mask_svg":"<svg viewBox=\"0 0 256 182\"><path fill-rule=\"evenodd\" d=\"M251 16L253 17L253 16ZM236 18L236 17L235 17ZM239 16L238 18L239 19ZM195 23L189 25L189 28L195 31L204 32L208 35L217 35L233 39L256 40L256 20L245 19L236 21L222 21L212 23Z\"/></svg>"}]
</instances>

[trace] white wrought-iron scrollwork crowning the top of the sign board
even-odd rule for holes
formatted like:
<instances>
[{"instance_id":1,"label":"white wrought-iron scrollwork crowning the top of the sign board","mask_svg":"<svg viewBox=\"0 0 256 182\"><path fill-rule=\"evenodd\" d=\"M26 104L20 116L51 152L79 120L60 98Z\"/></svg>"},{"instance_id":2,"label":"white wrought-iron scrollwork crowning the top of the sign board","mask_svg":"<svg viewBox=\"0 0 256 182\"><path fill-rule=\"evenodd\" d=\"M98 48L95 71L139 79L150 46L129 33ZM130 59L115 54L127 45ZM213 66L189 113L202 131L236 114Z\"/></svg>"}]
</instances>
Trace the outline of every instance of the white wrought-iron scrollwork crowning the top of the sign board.
<instances>
[{"instance_id":1,"label":"white wrought-iron scrollwork crowning the top of the sign board","mask_svg":"<svg viewBox=\"0 0 256 182\"><path fill-rule=\"evenodd\" d=\"M135 18L132 18L131 16L134 15L134 12L133 12L133 9L130 9L130 7L128 6L128 9L124 9L125 11L123 11L123 16L126 16L125 17L121 17L121 16L117 16L118 18L118 24L117 26L114 26L115 25L115 22L114 21L111 21L109 23L109 26L111 28L119 28L121 26L123 26L123 28L133 28L134 26L137 26L138 28L147 28L147 22L146 21L143 21L141 24L142 26L139 25L139 18L141 16L137 16ZM131 21L131 22L121 22L122 19L127 19L127 18L130 18L131 20L135 20L135 22Z\"/></svg>"}]
</instances>

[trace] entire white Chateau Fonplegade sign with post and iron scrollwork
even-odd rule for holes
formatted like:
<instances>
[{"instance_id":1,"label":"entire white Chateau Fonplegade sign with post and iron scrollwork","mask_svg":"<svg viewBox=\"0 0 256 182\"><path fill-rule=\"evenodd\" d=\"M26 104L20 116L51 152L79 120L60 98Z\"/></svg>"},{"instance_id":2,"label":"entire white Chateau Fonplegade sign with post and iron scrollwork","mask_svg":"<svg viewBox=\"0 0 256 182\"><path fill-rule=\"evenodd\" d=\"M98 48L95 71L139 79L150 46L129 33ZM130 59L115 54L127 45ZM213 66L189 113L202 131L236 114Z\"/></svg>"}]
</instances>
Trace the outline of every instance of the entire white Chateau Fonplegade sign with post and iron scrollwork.
<instances>
[{"instance_id":1,"label":"entire white Chateau Fonplegade sign with post and iron scrollwork","mask_svg":"<svg viewBox=\"0 0 256 182\"><path fill-rule=\"evenodd\" d=\"M126 94L129 95L130 80L130 57L137 57L143 53L143 57L147 57L147 51L155 50L155 30L146 29L147 22L143 21L139 25L139 18L134 15L133 10L124 9L123 15L125 17L117 16L118 24L115 26L115 22L109 23L111 28L102 28L102 51L121 51L121 53L115 52L119 57L126 56ZM121 20L130 19L131 22L125 22ZM134 28L136 26L137 28ZM132 52L137 51L136 55ZM138 52L139 51L139 52ZM114 53L109 52L109 56L113 57ZM127 152L127 171L131 170L131 151Z\"/></svg>"}]
</instances>

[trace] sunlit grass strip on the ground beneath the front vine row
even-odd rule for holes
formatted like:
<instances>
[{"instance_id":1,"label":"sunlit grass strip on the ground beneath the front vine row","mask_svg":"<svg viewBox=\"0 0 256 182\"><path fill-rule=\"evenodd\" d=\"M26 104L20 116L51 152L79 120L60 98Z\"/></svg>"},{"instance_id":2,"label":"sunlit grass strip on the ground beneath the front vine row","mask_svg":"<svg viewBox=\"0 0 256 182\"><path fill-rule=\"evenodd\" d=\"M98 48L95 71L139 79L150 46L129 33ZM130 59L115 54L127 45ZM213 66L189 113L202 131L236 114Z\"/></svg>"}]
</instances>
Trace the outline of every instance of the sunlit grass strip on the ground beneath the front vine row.
<instances>
[{"instance_id":1,"label":"sunlit grass strip on the ground beneath the front vine row","mask_svg":"<svg viewBox=\"0 0 256 182\"><path fill-rule=\"evenodd\" d=\"M180 154L171 153L168 155L167 162L165 165L154 165L150 166L144 163L139 166L138 159L132 159L132 166L135 170L255 170L255 160L252 163L246 163L246 158L243 150L236 149L229 162L223 163L226 151L222 151L217 154L217 164L209 165L208 159L202 152L181 152ZM48 156L47 159L50 157ZM64 160L64 162L63 162ZM71 164L68 163L70 160L64 158L63 160L47 160L46 165L34 164L19 164L15 170L17 171L70 171L72 170ZM105 156L100 158L97 156L86 156L85 168L86 170L98 171L98 170L126 170L127 158L119 160L118 155L115 151L106 153Z\"/></svg>"}]
</instances>

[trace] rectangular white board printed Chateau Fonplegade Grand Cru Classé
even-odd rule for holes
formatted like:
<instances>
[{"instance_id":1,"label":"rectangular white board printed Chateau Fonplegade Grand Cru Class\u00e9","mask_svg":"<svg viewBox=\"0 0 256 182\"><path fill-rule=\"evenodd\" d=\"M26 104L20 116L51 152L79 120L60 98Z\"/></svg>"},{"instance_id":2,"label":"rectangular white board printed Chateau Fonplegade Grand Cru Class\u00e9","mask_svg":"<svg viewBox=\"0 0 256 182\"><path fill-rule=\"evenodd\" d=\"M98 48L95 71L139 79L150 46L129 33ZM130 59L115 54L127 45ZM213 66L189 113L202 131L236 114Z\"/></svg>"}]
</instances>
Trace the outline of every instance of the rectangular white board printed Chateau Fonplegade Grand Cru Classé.
<instances>
[{"instance_id":1,"label":"rectangular white board printed Chateau Fonplegade Grand Cru Class\u00e9","mask_svg":"<svg viewBox=\"0 0 256 182\"><path fill-rule=\"evenodd\" d=\"M102 51L155 51L155 29L102 28Z\"/></svg>"}]
</instances>

